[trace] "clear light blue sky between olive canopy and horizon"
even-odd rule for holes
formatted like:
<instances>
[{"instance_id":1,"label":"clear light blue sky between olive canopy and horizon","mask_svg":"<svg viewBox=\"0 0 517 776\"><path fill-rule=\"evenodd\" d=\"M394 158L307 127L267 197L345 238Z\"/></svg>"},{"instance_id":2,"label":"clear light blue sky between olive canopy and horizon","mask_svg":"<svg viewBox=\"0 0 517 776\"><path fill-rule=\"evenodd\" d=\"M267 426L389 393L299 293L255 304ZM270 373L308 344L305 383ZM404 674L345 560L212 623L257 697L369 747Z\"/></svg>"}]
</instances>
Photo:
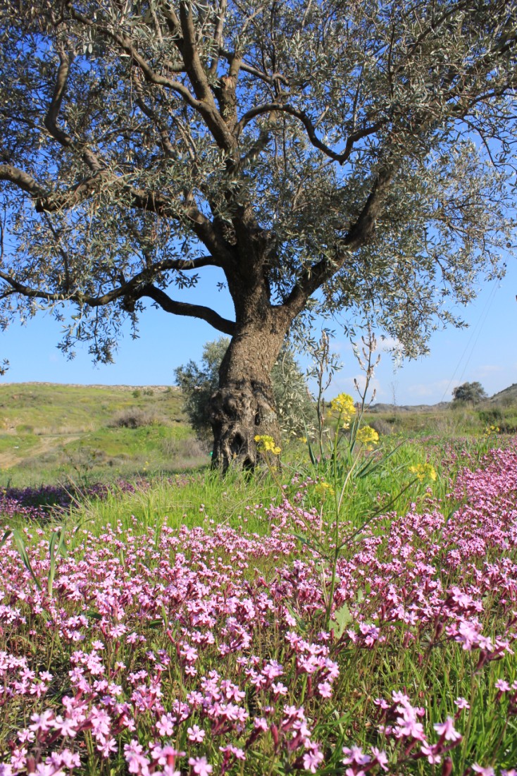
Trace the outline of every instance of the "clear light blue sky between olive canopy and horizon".
<instances>
[{"instance_id":1,"label":"clear light blue sky between olive canopy and horizon","mask_svg":"<svg viewBox=\"0 0 517 776\"><path fill-rule=\"evenodd\" d=\"M229 315L224 293L214 290L216 279L209 276L197 293L185 293L182 298L212 304L219 313ZM429 343L430 354L404 362L399 369L394 369L388 353L381 354L374 379L376 400L391 402L395 393L397 404L435 404L450 400L453 387L467 381L479 380L490 395L517 383L515 294L517 261L511 259L505 278L499 284L484 283L477 300L461 310L469 328L436 332ZM174 367L188 359L198 360L203 344L219 336L201 320L150 308L140 322L140 338L133 341L128 331L120 341L115 364L94 366L85 347L78 348L72 361L57 349L61 325L40 314L24 327L13 325L0 333L0 359L9 359L11 364L0 383L170 385ZM339 324L333 327L333 349L339 352L343 369L329 394L353 393L353 378L360 372L350 342L340 333Z\"/></svg>"}]
</instances>

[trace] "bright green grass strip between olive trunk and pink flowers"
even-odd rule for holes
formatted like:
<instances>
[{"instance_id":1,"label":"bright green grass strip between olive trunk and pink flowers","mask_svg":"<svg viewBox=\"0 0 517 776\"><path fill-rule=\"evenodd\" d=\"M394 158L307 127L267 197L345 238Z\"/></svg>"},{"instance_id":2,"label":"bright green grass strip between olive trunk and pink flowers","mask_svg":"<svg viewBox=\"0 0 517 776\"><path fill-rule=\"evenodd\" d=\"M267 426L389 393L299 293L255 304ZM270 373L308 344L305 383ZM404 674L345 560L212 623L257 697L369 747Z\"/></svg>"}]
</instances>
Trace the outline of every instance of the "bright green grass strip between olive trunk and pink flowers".
<instances>
[{"instance_id":1,"label":"bright green grass strip between olive trunk and pink flowers","mask_svg":"<svg viewBox=\"0 0 517 776\"><path fill-rule=\"evenodd\" d=\"M436 499L445 494L446 478L440 472L439 449L429 449L421 444L399 445L398 442L393 446L393 455L377 473L359 480L345 502L340 519L350 522L354 529L362 525L368 511L389 506L390 511L405 514L414 501L422 504L422 508L428 508L426 489L429 486ZM157 525L174 529L182 525L188 528L228 525L265 535L271 530L267 509L271 504L281 504L285 495L299 508L316 512L322 509L322 530L327 531L334 519L333 497L328 492L322 494L316 480L333 483L329 462L322 462L315 471L306 450L298 445L289 452L292 463L282 466L280 473L267 469L257 469L253 474L230 471L221 478L207 467L176 476L151 473L145 480L133 481L134 492L128 493L124 487L115 484L103 499L79 497L78 504L62 518L68 528L88 524L88 532L94 535L102 533L105 526L119 526L123 532L131 528L140 533ZM436 481L415 482L409 467L428 460L436 466ZM411 487L405 490L410 482ZM75 483L81 484L78 480Z\"/></svg>"}]
</instances>

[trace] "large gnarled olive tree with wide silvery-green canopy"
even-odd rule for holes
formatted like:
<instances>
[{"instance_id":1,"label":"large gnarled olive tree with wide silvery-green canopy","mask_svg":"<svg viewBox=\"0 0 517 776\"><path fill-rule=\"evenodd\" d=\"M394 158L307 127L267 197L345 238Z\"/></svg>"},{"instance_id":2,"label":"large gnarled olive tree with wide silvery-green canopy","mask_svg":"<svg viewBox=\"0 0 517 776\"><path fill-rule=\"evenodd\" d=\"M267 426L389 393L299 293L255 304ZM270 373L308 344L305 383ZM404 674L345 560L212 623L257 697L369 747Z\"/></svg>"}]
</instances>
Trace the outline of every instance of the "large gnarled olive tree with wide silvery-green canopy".
<instances>
[{"instance_id":1,"label":"large gnarled olive tree with wide silvery-green canopy","mask_svg":"<svg viewBox=\"0 0 517 776\"><path fill-rule=\"evenodd\" d=\"M202 318L231 338L210 405L222 467L277 437L271 369L294 325L367 314L416 355L498 271L513 0L0 9L0 322L72 303L61 346L109 361L146 304ZM232 317L178 299L209 267Z\"/></svg>"}]
</instances>

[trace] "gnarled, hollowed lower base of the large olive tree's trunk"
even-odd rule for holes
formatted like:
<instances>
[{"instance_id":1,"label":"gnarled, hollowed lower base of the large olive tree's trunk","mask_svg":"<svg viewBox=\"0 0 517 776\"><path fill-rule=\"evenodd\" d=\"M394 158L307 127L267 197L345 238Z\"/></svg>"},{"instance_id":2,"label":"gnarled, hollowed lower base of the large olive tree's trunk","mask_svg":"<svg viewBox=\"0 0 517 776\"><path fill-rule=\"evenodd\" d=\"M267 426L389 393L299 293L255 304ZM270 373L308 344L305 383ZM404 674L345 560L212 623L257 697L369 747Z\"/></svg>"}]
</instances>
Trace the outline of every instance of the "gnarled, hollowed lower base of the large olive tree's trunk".
<instances>
[{"instance_id":1,"label":"gnarled, hollowed lower base of the large olive tree's trunk","mask_svg":"<svg viewBox=\"0 0 517 776\"><path fill-rule=\"evenodd\" d=\"M212 465L226 471L230 466L257 466L257 435L280 441L271 383L242 379L226 383L210 401L214 432Z\"/></svg>"}]
</instances>

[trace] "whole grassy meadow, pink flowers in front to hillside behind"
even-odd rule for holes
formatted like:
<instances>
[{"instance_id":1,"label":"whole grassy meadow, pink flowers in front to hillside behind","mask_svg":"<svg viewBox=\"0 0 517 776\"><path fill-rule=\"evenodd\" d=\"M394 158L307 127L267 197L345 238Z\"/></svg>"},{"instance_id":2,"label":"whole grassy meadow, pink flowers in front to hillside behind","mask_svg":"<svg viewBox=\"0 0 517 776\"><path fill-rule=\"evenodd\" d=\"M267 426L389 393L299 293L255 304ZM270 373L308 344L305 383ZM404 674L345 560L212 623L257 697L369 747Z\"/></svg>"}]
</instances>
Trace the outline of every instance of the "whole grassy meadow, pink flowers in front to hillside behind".
<instances>
[{"instance_id":1,"label":"whole grassy meadow, pink flowers in front to hillside behind","mask_svg":"<svg viewBox=\"0 0 517 776\"><path fill-rule=\"evenodd\" d=\"M175 390L0 404L2 776L515 776L512 400L223 478Z\"/></svg>"}]
</instances>

